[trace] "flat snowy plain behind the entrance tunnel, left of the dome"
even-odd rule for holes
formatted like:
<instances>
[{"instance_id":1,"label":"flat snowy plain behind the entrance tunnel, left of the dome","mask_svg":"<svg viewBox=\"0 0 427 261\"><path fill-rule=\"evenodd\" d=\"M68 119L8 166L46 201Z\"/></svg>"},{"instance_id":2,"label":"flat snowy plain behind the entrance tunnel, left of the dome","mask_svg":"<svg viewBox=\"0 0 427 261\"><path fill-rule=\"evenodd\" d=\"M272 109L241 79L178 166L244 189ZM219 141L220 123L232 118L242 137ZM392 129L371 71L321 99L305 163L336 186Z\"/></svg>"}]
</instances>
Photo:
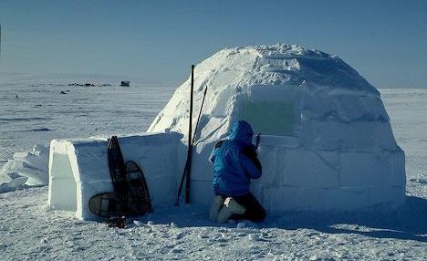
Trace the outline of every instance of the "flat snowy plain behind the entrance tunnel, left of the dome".
<instances>
[{"instance_id":1,"label":"flat snowy plain behind the entrance tunnel, left of the dome","mask_svg":"<svg viewBox=\"0 0 427 261\"><path fill-rule=\"evenodd\" d=\"M97 86L68 86L74 83ZM0 74L0 165L54 138L146 131L175 88L119 83L112 77Z\"/></svg>"}]
</instances>

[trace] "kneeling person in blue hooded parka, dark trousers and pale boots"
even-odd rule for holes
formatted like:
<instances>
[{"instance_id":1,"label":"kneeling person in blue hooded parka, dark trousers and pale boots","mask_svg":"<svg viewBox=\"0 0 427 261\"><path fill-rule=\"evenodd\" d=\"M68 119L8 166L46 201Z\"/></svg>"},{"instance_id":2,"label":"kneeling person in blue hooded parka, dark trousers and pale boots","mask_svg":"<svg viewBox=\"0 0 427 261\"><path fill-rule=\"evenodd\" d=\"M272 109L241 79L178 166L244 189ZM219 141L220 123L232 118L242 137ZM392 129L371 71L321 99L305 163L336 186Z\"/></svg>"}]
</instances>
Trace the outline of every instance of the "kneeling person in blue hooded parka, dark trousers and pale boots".
<instances>
[{"instance_id":1,"label":"kneeling person in blue hooded parka, dark trousers and pale boots","mask_svg":"<svg viewBox=\"0 0 427 261\"><path fill-rule=\"evenodd\" d=\"M218 223L228 219L263 221L266 210L249 192L251 179L262 175L262 166L252 144L251 125L245 120L234 123L227 140L216 143L213 162L213 191L216 194L209 217Z\"/></svg>"}]
</instances>

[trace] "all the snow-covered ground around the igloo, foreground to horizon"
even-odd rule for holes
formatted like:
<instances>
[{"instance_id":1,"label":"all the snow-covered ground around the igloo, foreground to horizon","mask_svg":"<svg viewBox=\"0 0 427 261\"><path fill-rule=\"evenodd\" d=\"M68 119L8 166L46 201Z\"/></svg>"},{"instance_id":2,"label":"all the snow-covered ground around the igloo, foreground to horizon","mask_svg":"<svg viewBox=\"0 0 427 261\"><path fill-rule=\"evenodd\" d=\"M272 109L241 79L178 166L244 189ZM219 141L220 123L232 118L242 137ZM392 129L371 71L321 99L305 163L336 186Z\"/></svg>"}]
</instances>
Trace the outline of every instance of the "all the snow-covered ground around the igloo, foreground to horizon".
<instances>
[{"instance_id":1,"label":"all the snow-covered ground around the igloo, foreground to horizon","mask_svg":"<svg viewBox=\"0 0 427 261\"><path fill-rule=\"evenodd\" d=\"M14 77L0 79L0 165L53 138L145 131L175 88ZM67 85L85 81L111 86ZM219 226L205 209L184 205L156 209L120 230L47 209L47 187L39 187L0 193L0 259L425 260L427 89L380 92L406 153L407 197L399 210L286 213L263 224Z\"/></svg>"}]
</instances>

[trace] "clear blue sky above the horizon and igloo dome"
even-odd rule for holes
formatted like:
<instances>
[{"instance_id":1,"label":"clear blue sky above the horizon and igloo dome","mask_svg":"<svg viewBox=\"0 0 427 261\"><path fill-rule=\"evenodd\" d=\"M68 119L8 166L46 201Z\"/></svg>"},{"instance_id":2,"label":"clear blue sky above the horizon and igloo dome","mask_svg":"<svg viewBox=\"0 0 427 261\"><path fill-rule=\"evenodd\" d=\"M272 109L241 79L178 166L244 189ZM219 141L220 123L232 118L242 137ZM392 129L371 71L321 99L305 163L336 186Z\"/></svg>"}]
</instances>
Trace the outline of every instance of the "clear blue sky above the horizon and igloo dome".
<instances>
[{"instance_id":1,"label":"clear blue sky above the horizon and igloo dome","mask_svg":"<svg viewBox=\"0 0 427 261\"><path fill-rule=\"evenodd\" d=\"M427 88L427 1L0 0L0 72L181 83L224 47L301 44L377 88Z\"/></svg>"}]
</instances>

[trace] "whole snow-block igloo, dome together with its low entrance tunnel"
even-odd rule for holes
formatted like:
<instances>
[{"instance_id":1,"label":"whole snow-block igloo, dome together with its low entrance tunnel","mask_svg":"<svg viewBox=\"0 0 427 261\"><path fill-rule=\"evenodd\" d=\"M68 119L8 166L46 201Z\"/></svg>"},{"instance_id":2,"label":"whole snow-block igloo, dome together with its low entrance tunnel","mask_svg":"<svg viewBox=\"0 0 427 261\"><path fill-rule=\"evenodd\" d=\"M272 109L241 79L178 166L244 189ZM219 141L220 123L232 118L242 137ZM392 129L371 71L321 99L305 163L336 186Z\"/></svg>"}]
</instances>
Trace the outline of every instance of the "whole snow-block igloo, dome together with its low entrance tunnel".
<instances>
[{"instance_id":1,"label":"whole snow-block igloo, dome together with its low entrance tunnel","mask_svg":"<svg viewBox=\"0 0 427 261\"><path fill-rule=\"evenodd\" d=\"M119 138L125 160L140 164L145 174L154 211L175 202L186 161L190 80L146 133ZM211 204L209 156L234 120L262 133L263 176L251 191L270 213L404 201L404 153L380 93L338 57L287 45L224 49L195 67L193 104L193 126L200 110L202 117L194 134L191 204ZM96 218L89 199L113 191L107 138L51 141L49 206Z\"/></svg>"}]
</instances>

